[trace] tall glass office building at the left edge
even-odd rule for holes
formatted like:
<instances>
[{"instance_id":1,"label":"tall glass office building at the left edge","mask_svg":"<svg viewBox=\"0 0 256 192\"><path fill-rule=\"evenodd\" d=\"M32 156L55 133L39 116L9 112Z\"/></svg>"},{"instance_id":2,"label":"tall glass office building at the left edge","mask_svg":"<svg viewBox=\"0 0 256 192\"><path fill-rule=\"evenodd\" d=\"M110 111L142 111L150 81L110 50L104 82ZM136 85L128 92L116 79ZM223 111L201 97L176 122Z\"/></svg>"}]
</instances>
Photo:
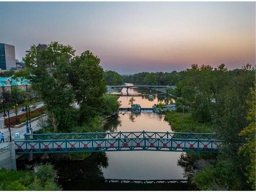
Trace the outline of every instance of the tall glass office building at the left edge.
<instances>
[{"instance_id":1,"label":"tall glass office building at the left edge","mask_svg":"<svg viewBox=\"0 0 256 192\"><path fill-rule=\"evenodd\" d=\"M0 69L16 69L14 46L8 44L0 44Z\"/></svg>"}]
</instances>

